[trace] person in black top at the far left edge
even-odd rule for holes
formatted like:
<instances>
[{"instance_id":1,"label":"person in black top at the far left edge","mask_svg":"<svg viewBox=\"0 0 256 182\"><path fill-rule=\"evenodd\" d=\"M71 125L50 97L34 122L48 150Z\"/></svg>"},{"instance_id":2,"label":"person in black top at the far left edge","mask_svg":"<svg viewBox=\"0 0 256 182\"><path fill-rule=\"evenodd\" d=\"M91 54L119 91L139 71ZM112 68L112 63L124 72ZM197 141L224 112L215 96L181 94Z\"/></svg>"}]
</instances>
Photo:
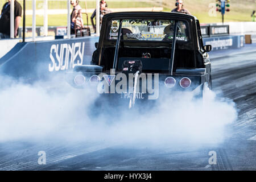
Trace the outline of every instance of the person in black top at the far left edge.
<instances>
[{"instance_id":1,"label":"person in black top at the far left edge","mask_svg":"<svg viewBox=\"0 0 256 182\"><path fill-rule=\"evenodd\" d=\"M3 9L1 11L0 15L0 39L10 39L11 36L11 0L8 0L8 2L3 5ZM20 3L18 1L14 1L14 38L18 36L18 28L20 19L22 16L22 7L20 6Z\"/></svg>"}]
</instances>

